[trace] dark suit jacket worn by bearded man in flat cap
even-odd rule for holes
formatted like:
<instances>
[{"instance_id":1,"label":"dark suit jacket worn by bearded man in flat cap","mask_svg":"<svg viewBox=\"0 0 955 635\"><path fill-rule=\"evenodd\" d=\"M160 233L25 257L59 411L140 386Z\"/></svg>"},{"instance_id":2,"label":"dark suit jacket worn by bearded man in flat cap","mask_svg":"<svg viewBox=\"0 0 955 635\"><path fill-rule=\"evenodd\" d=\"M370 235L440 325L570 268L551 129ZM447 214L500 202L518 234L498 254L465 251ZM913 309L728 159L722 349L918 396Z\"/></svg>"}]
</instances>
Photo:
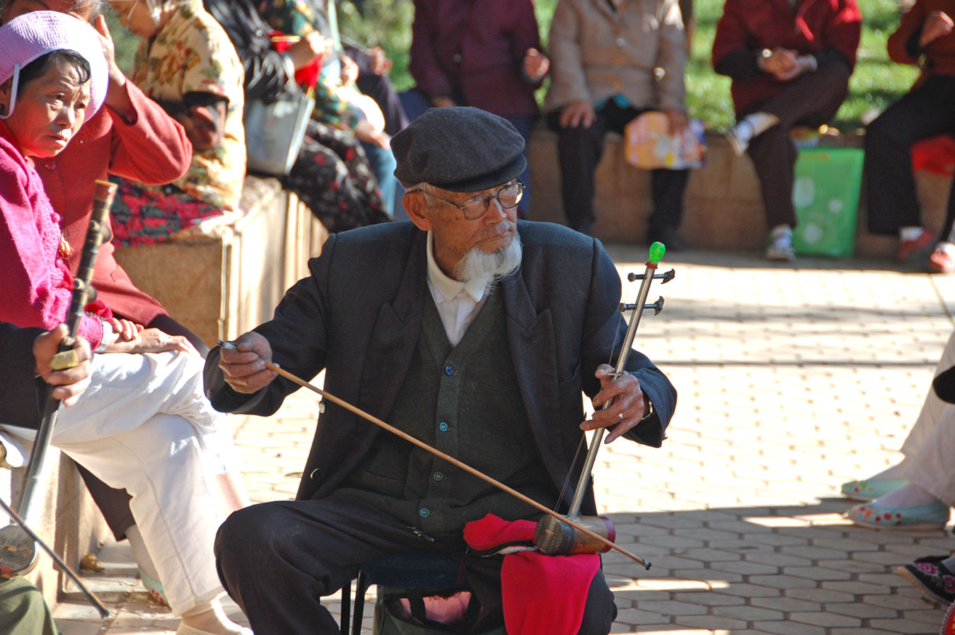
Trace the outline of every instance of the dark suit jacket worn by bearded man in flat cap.
<instances>
[{"instance_id":1,"label":"dark suit jacket worn by bearded man in flat cap","mask_svg":"<svg viewBox=\"0 0 955 635\"><path fill-rule=\"evenodd\" d=\"M564 499L572 497L580 463L572 466L584 420L581 392L594 395L594 372L623 341L620 278L603 246L560 225L518 222L520 271L501 281L507 334L520 393L543 463ZM286 293L275 317L256 328L273 360L310 379L326 369L325 390L385 421L412 359L423 303L431 302L427 234L411 222L362 227L329 237L308 266L311 277ZM233 392L214 349L206 360L206 393L223 412L271 414L298 387L279 377L254 395ZM667 377L632 351L627 370L640 380L656 414L626 434L659 446L676 404ZM488 395L493 399L494 395ZM380 431L327 403L312 443L298 497L328 496L355 467ZM568 472L571 473L569 480ZM594 514L592 492L584 514Z\"/></svg>"}]
</instances>

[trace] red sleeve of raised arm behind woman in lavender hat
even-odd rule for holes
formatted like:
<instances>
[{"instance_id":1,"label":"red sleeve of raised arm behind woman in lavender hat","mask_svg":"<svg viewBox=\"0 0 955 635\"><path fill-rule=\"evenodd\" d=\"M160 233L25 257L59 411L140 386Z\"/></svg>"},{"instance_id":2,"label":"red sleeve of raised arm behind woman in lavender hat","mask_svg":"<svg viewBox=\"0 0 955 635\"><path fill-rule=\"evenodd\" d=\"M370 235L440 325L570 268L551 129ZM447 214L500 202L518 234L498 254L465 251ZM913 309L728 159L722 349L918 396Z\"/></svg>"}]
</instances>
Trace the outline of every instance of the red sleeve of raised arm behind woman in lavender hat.
<instances>
[{"instance_id":1,"label":"red sleeve of raised arm behind woman in lavender hat","mask_svg":"<svg viewBox=\"0 0 955 635\"><path fill-rule=\"evenodd\" d=\"M110 172L152 185L180 179L192 162L185 130L133 82L126 82L126 90L133 102L132 123L104 106L113 117Z\"/></svg>"}]
</instances>

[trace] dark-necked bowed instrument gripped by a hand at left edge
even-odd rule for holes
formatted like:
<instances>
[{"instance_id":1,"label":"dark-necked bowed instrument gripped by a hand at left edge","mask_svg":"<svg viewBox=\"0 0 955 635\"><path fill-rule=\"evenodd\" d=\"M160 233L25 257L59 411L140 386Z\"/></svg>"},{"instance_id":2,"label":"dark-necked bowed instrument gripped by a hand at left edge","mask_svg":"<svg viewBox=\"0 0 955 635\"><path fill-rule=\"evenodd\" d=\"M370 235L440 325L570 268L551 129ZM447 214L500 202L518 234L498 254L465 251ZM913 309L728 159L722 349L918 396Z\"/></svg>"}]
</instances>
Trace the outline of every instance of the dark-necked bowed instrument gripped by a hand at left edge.
<instances>
[{"instance_id":1,"label":"dark-necked bowed instrument gripped by a hand at left edge","mask_svg":"<svg viewBox=\"0 0 955 635\"><path fill-rule=\"evenodd\" d=\"M96 193L93 202L93 215L86 232L86 241L80 256L79 269L73 281L73 294L70 300L70 309L67 313L66 324L69 334L60 343L57 352L50 362L53 370L63 370L74 367L78 360L73 349L76 337L79 334L79 325L85 315L86 306L94 299L95 291L91 284L93 270L96 265L96 256L99 245L103 241L106 221L110 212L110 205L116 193L117 186L105 180L96 181ZM47 450L53 436L53 426L56 424L56 413L59 409L59 399L53 397L53 387L48 387L46 401L43 407L43 416L40 427L36 432L36 440L27 465L27 474L24 476L20 498L15 506L16 515L12 516L18 524L11 524L0 529L0 577L12 578L22 576L36 565L38 552L36 550L36 535L27 528L36 520L34 498L41 491L40 478L45 476ZM6 505L4 505L6 507ZM25 521L20 522L20 519ZM42 545L49 551L46 545ZM61 563L65 567L65 564ZM65 568L68 575L73 574ZM89 592L71 575L84 593ZM89 596L88 596L89 597ZM99 604L99 608L102 604ZM105 610L105 609L103 609ZM101 611L102 612L102 611Z\"/></svg>"}]
</instances>

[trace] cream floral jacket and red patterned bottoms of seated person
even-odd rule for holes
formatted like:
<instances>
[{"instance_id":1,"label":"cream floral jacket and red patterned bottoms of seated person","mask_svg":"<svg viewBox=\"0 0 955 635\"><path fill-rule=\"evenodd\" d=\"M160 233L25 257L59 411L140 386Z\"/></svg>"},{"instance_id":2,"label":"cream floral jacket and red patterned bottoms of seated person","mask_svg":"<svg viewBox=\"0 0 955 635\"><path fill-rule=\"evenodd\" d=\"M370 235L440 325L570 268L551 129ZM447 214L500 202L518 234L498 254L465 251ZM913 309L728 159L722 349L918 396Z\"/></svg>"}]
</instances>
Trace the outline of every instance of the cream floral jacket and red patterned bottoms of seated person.
<instances>
[{"instance_id":1,"label":"cream floral jacket and red patterned bottoms of seated person","mask_svg":"<svg viewBox=\"0 0 955 635\"><path fill-rule=\"evenodd\" d=\"M189 169L172 183L117 179L114 242L156 243L198 232L206 219L234 219L223 213L238 210L245 180L243 68L228 35L202 0L110 4L142 38L133 81L180 121L193 148Z\"/></svg>"}]
</instances>

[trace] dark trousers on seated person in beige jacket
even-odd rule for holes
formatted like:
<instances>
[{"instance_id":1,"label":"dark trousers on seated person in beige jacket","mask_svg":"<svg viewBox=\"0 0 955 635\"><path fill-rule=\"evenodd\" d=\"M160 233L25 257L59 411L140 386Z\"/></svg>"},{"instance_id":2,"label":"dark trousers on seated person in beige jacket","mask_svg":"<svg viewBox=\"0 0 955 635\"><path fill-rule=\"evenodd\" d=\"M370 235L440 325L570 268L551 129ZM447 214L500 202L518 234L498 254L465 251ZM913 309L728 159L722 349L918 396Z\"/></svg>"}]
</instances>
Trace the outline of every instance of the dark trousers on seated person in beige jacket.
<instances>
[{"instance_id":1,"label":"dark trousers on seated person in beige jacket","mask_svg":"<svg viewBox=\"0 0 955 635\"><path fill-rule=\"evenodd\" d=\"M590 233L594 222L594 172L604 154L607 132L624 133L626 124L647 109L621 108L612 99L597 109L597 119L589 128L561 127L561 111L547 116L547 125L558 133L557 158L561 165L563 214L572 228ZM647 221L649 233L663 227L676 228L683 219L683 195L690 179L689 170L650 171L650 199L653 213Z\"/></svg>"}]
</instances>

